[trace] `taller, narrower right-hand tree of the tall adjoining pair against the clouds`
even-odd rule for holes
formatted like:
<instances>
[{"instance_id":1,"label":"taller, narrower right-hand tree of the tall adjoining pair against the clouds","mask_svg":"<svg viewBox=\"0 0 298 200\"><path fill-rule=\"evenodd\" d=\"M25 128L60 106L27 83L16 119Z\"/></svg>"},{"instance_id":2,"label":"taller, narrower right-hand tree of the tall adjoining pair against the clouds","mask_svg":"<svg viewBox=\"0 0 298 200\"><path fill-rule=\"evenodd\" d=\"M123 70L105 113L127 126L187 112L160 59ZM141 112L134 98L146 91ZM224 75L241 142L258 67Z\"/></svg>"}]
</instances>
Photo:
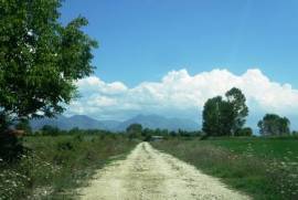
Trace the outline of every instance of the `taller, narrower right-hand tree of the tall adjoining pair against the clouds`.
<instances>
[{"instance_id":1,"label":"taller, narrower right-hand tree of the tall adjoining pair against the clouds","mask_svg":"<svg viewBox=\"0 0 298 200\"><path fill-rule=\"evenodd\" d=\"M240 88L233 87L225 94L227 102L232 106L231 120L232 120L232 134L241 130L246 122L248 115L248 107L246 106L245 95Z\"/></svg>"}]
</instances>

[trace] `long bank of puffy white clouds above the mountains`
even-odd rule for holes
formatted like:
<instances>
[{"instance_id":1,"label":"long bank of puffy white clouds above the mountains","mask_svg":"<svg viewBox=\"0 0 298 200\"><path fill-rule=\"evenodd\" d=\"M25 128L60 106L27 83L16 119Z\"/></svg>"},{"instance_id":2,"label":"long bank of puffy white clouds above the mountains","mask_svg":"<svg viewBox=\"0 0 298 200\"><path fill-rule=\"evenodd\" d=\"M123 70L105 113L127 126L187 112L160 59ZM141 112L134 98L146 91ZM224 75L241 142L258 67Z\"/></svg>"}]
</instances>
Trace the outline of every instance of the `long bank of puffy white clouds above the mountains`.
<instances>
[{"instance_id":1,"label":"long bank of puffy white clouds above the mountains","mask_svg":"<svg viewBox=\"0 0 298 200\"><path fill-rule=\"evenodd\" d=\"M78 81L81 98L68 108L72 114L124 119L138 113L171 117L199 117L205 101L241 88L252 113L291 115L298 108L298 91L289 84L270 81L258 69L235 75L213 70L190 75L187 70L169 72L160 82L143 82L129 88L121 82L106 83L91 76Z\"/></svg>"}]
</instances>

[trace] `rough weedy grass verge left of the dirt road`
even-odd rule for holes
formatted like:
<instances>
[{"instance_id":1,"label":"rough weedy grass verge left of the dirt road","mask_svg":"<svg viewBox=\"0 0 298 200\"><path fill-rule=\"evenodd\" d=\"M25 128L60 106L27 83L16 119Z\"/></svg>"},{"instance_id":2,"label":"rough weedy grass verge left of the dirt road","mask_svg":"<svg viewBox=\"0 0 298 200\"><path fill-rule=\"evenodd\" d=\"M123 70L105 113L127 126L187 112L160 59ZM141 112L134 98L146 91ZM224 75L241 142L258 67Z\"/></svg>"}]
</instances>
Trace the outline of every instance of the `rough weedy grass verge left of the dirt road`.
<instances>
[{"instance_id":1,"label":"rough weedy grass verge left of the dirt road","mask_svg":"<svg viewBox=\"0 0 298 200\"><path fill-rule=\"evenodd\" d=\"M96 169L129 152L121 135L28 136L31 151L18 164L0 161L0 200L71 199Z\"/></svg>"}]
</instances>

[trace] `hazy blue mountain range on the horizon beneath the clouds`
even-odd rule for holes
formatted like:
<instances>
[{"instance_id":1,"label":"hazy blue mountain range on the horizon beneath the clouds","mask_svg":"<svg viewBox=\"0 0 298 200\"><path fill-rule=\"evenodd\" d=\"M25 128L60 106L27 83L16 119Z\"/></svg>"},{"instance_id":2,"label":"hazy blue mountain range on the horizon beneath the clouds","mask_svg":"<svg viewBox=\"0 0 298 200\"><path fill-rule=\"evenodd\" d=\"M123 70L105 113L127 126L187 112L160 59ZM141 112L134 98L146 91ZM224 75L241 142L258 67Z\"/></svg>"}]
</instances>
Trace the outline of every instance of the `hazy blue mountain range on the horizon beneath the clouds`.
<instances>
[{"instance_id":1,"label":"hazy blue mountain range on the horizon beneath the clouds","mask_svg":"<svg viewBox=\"0 0 298 200\"><path fill-rule=\"evenodd\" d=\"M70 130L74 127L81 129L106 129L125 130L130 124L141 124L145 128L160 128L169 130L198 130L199 125L190 119L166 118L159 115L138 115L125 122L96 120L85 115L74 115L72 117L58 116L57 118L43 118L31 120L33 130L41 129L44 125L56 126L60 129Z\"/></svg>"}]
</instances>

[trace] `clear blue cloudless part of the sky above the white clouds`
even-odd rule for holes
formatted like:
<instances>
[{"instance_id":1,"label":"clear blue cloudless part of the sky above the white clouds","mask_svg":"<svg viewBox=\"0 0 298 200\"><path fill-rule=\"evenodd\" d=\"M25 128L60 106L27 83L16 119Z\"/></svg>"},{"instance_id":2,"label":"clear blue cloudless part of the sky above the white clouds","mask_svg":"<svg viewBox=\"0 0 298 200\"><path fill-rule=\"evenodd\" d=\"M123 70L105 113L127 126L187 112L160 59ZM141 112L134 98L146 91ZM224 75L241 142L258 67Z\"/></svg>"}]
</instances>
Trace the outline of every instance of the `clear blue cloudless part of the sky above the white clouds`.
<instances>
[{"instance_id":1,"label":"clear blue cloudless part of the sky above the white clouds","mask_svg":"<svg viewBox=\"0 0 298 200\"><path fill-rule=\"evenodd\" d=\"M78 14L99 41L94 64L107 82L135 86L182 67L258 67L298 86L296 0L66 0L62 21Z\"/></svg>"}]
</instances>

